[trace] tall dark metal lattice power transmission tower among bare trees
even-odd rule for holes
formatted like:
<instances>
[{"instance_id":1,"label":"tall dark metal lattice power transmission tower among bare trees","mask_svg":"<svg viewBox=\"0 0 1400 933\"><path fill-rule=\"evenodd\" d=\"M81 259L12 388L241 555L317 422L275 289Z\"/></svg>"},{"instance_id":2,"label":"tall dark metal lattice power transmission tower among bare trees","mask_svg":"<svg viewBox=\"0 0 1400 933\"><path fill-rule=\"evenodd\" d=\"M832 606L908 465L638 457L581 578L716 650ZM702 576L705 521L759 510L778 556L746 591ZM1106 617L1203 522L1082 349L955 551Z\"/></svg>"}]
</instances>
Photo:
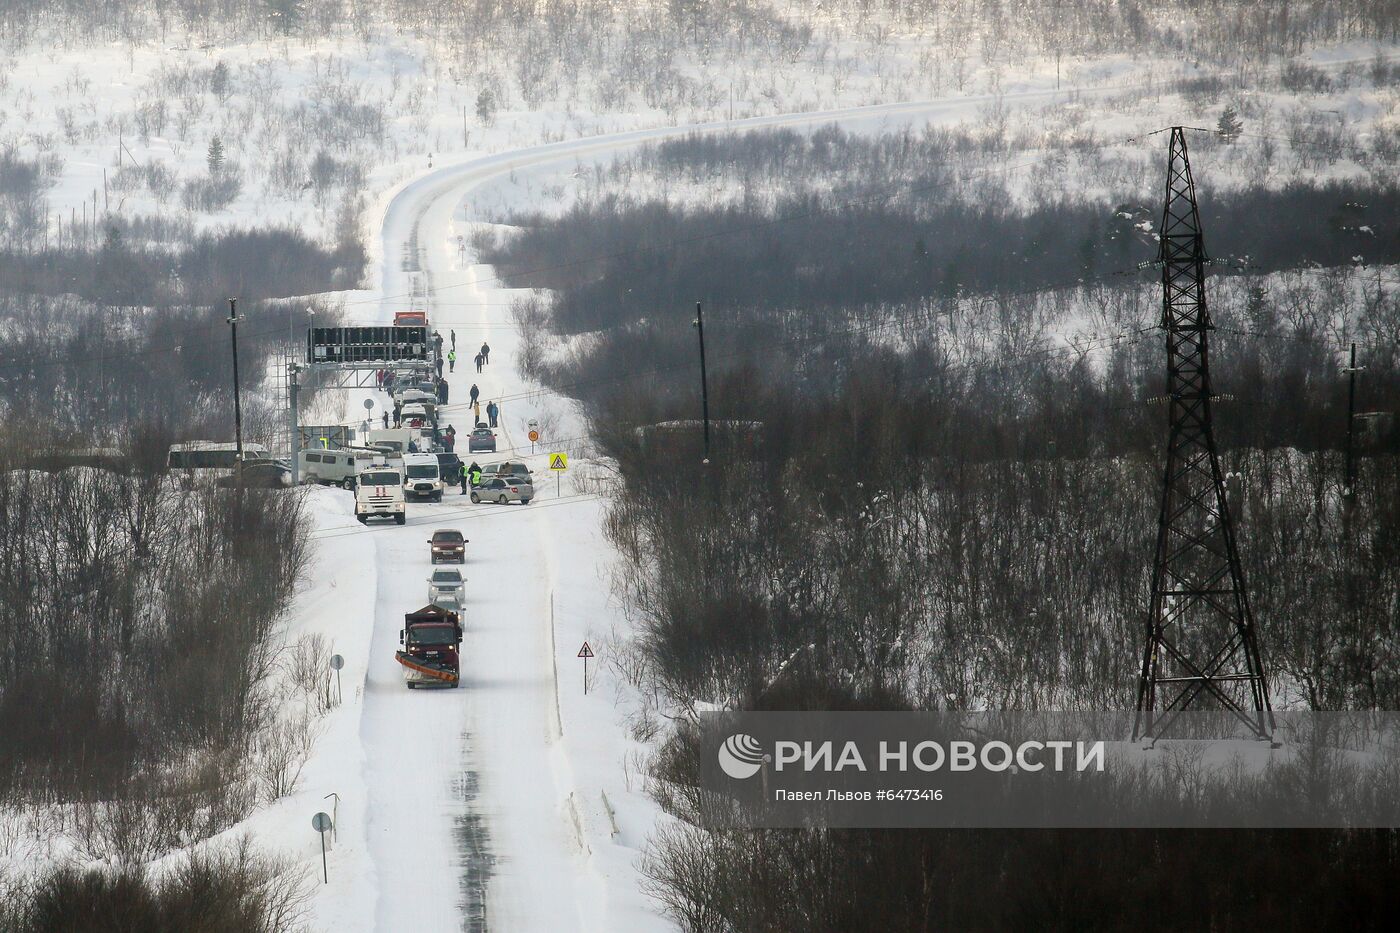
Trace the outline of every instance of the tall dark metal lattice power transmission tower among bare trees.
<instances>
[{"instance_id":1,"label":"tall dark metal lattice power transmission tower among bare trees","mask_svg":"<svg viewBox=\"0 0 1400 933\"><path fill-rule=\"evenodd\" d=\"M1163 735L1186 709L1229 710L1261 738L1274 731L1211 427L1205 262L1186 136L1176 126L1158 259L1170 433L1134 738Z\"/></svg>"}]
</instances>

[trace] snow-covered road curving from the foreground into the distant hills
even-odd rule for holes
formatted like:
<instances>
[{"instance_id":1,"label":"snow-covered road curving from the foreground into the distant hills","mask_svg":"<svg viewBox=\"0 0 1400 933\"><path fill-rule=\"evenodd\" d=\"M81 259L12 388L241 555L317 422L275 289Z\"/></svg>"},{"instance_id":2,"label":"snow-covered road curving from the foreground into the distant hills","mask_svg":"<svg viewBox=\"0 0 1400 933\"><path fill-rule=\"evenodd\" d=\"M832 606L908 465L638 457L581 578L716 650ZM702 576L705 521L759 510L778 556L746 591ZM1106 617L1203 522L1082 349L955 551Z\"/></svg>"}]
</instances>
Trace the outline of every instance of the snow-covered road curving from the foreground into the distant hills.
<instances>
[{"instance_id":1,"label":"snow-covered road curving from the foreground into the distant hills","mask_svg":"<svg viewBox=\"0 0 1400 933\"><path fill-rule=\"evenodd\" d=\"M1050 98L1030 92L1002 99ZM876 130L974 116L986 102L962 98L641 130L440 167L386 196L377 249L382 298L371 305L377 314L360 312L361 305L351 308L351 318L388 321L409 307L405 296L423 296L414 307L427 307L444 336L456 332L462 359L449 375L451 402L466 401L473 381L483 405L510 399L503 405L503 450L519 444L528 452L524 422L536 412L528 398L533 387L514 368L511 293L496 287L487 266L470 263L469 224L476 219L463 213L463 205L475 189L505 177L518 181L522 174L610 158L686 132L832 120ZM466 238L465 251L458 237ZM470 360L483 338L491 345L491 363L476 374ZM358 405L358 398L353 401ZM465 437L470 415L447 417L454 419ZM372 922L363 918L365 929L671 929L638 885L637 853L654 814L624 800L629 792L640 796L630 778L622 787L623 758L631 747L623 723L627 710L598 696L582 698L577 682L578 636L596 639L620 623L608 604L610 555L599 532L602 509L574 493L573 474L556 499L543 455L526 459L539 485L539 499L528 507L470 506L454 492L441 504L412 504L406 527L377 525L358 535L374 552L377 574L360 719L365 848L374 871L364 881L375 892ZM410 692L393 651L403 614L424 602L426 542L438 527L461 528L470 539L465 677L462 689ZM344 534L358 531L350 523ZM557 632L552 600L559 604ZM564 674L563 688L556 670Z\"/></svg>"}]
</instances>

